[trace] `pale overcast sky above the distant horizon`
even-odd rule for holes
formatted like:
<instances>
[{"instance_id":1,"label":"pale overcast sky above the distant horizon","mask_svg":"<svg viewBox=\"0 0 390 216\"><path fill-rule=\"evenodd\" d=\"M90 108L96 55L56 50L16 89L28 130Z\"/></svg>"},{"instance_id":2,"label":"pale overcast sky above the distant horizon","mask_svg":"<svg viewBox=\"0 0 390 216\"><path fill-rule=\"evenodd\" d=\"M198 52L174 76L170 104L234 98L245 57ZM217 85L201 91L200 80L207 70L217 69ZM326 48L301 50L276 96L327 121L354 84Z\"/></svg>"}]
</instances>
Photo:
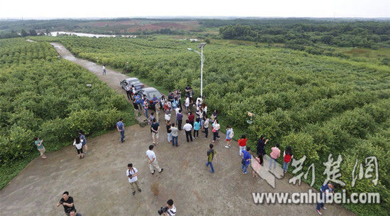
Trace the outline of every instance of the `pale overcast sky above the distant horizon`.
<instances>
[{"instance_id":1,"label":"pale overcast sky above the distant horizon","mask_svg":"<svg viewBox=\"0 0 390 216\"><path fill-rule=\"evenodd\" d=\"M0 18L390 17L390 0L0 0Z\"/></svg>"}]
</instances>

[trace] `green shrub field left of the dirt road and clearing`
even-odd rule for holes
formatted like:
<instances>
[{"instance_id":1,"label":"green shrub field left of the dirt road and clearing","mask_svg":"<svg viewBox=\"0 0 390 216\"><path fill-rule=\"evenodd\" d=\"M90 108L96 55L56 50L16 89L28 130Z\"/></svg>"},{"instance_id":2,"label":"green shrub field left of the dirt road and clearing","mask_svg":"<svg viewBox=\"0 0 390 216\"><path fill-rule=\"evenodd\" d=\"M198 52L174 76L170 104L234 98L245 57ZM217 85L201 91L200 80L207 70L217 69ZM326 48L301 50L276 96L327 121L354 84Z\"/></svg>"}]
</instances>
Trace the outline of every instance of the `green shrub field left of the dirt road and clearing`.
<instances>
[{"instance_id":1,"label":"green shrub field left of the dirt road and clearing","mask_svg":"<svg viewBox=\"0 0 390 216\"><path fill-rule=\"evenodd\" d=\"M79 129L94 136L120 117L135 123L124 97L91 72L58 59L49 43L0 40L0 83L0 188L38 155L34 136L55 151L72 144Z\"/></svg>"}]
</instances>

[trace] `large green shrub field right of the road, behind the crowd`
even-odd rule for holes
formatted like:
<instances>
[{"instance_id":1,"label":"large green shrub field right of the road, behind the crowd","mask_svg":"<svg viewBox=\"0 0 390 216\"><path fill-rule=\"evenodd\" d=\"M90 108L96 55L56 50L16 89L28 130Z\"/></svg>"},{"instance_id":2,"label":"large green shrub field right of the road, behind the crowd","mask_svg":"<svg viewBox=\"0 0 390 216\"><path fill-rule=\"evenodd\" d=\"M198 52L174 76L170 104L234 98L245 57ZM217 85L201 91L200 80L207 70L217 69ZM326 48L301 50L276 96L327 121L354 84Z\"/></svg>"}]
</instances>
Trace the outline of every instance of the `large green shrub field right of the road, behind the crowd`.
<instances>
[{"instance_id":1,"label":"large green shrub field right of the road, behind the crowd","mask_svg":"<svg viewBox=\"0 0 390 216\"><path fill-rule=\"evenodd\" d=\"M60 41L80 58L121 68L167 90L183 90L189 84L199 92L200 58L186 50L196 48L196 43L70 36L40 40ZM237 136L238 131L247 134L255 148L255 139L265 134L270 140L268 153L275 143L293 146L295 158L307 156L303 171L315 164L316 188L325 179L323 163L329 153L334 158L340 154L338 179L346 184L347 193L381 194L380 205L345 207L358 215L390 215L389 66L218 41L206 45L204 55L208 109L218 109L223 123L237 129ZM256 114L252 124L247 124L247 111ZM364 165L367 156L377 157L379 183L358 179L352 188L355 161Z\"/></svg>"}]
</instances>

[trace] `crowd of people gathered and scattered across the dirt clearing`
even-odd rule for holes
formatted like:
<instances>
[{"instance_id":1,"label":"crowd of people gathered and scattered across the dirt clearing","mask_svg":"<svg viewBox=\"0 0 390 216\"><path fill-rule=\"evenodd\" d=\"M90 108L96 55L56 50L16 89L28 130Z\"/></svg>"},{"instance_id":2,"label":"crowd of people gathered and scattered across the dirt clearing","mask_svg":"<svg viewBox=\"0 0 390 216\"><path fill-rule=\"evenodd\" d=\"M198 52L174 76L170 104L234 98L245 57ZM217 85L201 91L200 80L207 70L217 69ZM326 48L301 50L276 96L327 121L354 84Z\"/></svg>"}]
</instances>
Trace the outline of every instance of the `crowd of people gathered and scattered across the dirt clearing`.
<instances>
[{"instance_id":1,"label":"crowd of people gathered and scattered across the dirt clearing","mask_svg":"<svg viewBox=\"0 0 390 216\"><path fill-rule=\"evenodd\" d=\"M164 171L163 168L160 168L155 151L153 151L154 147L159 144L160 139L160 119L159 114L163 113L165 119L165 128L167 131L167 142L172 144L172 146L180 146L178 144L178 136L179 131L184 130L186 141L189 143L190 141L194 141L194 139L199 139L199 131L204 134L204 139L208 139L208 128L212 127L213 137L211 140L211 144L209 144L209 148L206 151L206 167L210 167L210 172L214 173L213 161L216 160L216 150L214 149L213 143L220 139L219 131L221 129L221 125L218 122L218 111L216 109L213 110L211 117L208 117L207 113L207 104L204 102L204 97L198 97L194 100L194 90L191 87L187 86L185 90L185 101L184 107L185 110L182 109L181 91L175 90L169 92L167 98L162 96L160 99L155 97L152 98L152 102L148 102L145 98L145 95L140 95L135 92L135 88L132 86L126 86L126 95L128 99L133 102L133 106L135 109L135 118L139 118L138 111L144 109L145 117L147 117L147 121L150 124L150 133L152 138L152 145L149 146L147 151L145 152L145 156L147 158L147 163L149 164L150 173L152 175L155 174L157 170L158 173L162 173ZM192 105L192 106L191 106ZM148 115L148 110L150 110L150 115ZM171 114L174 115L172 120ZM182 126L182 121L184 120L184 114L187 114L187 119L185 120L185 124ZM121 142L125 141L125 124L123 123L123 118L119 119L116 123L116 129L121 134ZM84 158L84 154L87 153L87 139L82 130L78 131L79 136L74 138L73 145L76 148L77 155L79 158ZM231 141L234 137L234 131L232 126L226 126L226 136L225 136L225 148L231 147ZM266 154L265 146L267 145L269 139L266 139L264 135L260 136L257 140L257 148L255 151L255 156L252 156L252 151L250 146L247 146L247 137L245 134L240 136L238 139L238 147L239 152L238 155L241 157L241 170L243 174L247 173L247 169L249 166L252 168L252 177L255 178L259 176L260 169L264 166L264 155ZM39 139L35 137L35 145L40 152L41 158L46 158L45 156L45 147L43 146L43 139ZM269 153L269 170L276 168L277 159L281 156L281 150L279 144L274 144L271 148L271 152ZM291 146L286 146L283 152L283 173L287 172L289 168L289 163L293 158L293 151ZM273 167L272 167L273 164ZM138 169L133 166L133 163L128 163L128 169L126 170L126 176L128 177L128 182L130 183L130 187L133 195L135 195L136 190L140 193L142 190L140 185L138 184ZM321 187L321 193L325 190L334 190L333 184L323 185ZM68 192L63 193L62 199L57 203L57 207L63 205L65 209L66 215L81 215L76 213L76 209L73 204L73 198L69 196ZM323 203L318 203L316 210L318 214L321 213L321 208L325 210ZM162 212L163 215L173 216L176 214L176 207L173 205L172 200L168 200L167 207L165 212Z\"/></svg>"}]
</instances>

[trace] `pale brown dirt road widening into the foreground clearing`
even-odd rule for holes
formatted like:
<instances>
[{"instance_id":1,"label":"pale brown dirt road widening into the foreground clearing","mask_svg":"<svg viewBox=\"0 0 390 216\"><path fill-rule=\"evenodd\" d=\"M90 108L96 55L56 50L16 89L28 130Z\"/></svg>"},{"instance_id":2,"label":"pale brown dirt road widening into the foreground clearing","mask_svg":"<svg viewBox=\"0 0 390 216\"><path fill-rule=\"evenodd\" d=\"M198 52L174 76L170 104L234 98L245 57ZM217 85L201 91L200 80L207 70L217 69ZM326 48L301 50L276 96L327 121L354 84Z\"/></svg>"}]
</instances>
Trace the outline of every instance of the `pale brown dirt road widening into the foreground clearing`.
<instances>
[{"instance_id":1,"label":"pale brown dirt road widening into the foreground clearing","mask_svg":"<svg viewBox=\"0 0 390 216\"><path fill-rule=\"evenodd\" d=\"M100 65L74 58L62 45L53 45L63 58L125 93L118 84L126 75L108 70L103 76ZM215 144L216 173L210 173L205 162L211 138L199 134L199 139L186 143L180 131L180 146L176 148L167 144L166 136L162 126L160 145L155 148L157 161L164 168L161 174L149 173L145 151L151 143L150 129L138 125L126 127L123 144L117 131L89 139L90 151L82 160L73 146L49 153L45 160L37 158L0 191L0 215L64 215L63 208L55 205L65 190L83 215L157 215L169 198L175 202L177 215L317 215L315 205L255 205L252 192L306 192L310 187L289 184L291 175L276 180L275 189L265 180L243 175L237 142L232 148L224 148L221 136ZM138 181L143 192L135 196L125 175L127 163L140 171ZM158 195L152 188L158 188ZM353 215L340 205L327 207L324 215Z\"/></svg>"}]
</instances>

